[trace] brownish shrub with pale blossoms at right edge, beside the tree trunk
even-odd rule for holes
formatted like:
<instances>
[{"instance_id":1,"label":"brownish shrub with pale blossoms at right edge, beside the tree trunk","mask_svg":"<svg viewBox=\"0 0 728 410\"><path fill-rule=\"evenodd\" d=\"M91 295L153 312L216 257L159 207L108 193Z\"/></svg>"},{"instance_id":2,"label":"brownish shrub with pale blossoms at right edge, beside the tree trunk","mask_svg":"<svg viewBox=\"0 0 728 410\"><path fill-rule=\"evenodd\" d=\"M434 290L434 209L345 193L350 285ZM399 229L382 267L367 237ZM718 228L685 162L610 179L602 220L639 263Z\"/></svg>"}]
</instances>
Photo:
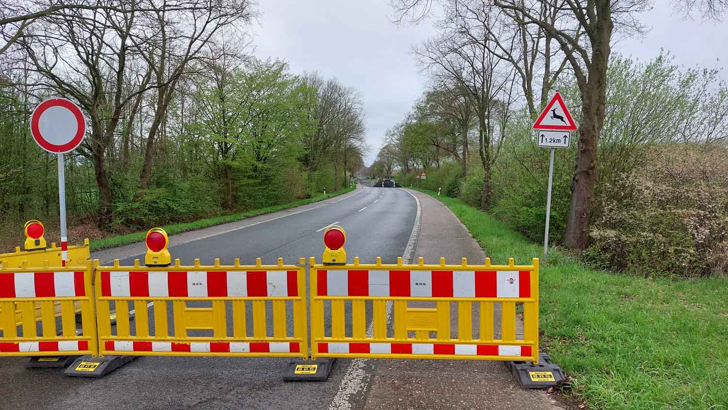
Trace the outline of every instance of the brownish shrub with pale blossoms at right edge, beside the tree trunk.
<instances>
[{"instance_id":1,"label":"brownish shrub with pale blossoms at right edge, beside the tree trunk","mask_svg":"<svg viewBox=\"0 0 728 410\"><path fill-rule=\"evenodd\" d=\"M646 276L728 272L727 155L722 147L654 149L603 198L587 259Z\"/></svg>"}]
</instances>

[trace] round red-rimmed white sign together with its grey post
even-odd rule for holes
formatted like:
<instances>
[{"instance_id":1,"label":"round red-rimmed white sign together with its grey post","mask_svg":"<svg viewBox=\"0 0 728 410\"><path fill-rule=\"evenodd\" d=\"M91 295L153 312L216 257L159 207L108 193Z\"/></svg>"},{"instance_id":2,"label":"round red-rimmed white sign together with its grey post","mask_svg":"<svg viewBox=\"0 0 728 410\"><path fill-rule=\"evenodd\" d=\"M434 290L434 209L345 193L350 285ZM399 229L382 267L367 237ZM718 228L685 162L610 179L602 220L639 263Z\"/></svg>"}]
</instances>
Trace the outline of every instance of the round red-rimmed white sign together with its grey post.
<instances>
[{"instance_id":1,"label":"round red-rimmed white sign together with its grey post","mask_svg":"<svg viewBox=\"0 0 728 410\"><path fill-rule=\"evenodd\" d=\"M61 266L68 260L66 232L66 169L63 154L84 140L86 119L79 106L66 98L50 98L38 104L31 115L31 135L44 150L58 155L58 210L60 211Z\"/></svg>"}]
</instances>

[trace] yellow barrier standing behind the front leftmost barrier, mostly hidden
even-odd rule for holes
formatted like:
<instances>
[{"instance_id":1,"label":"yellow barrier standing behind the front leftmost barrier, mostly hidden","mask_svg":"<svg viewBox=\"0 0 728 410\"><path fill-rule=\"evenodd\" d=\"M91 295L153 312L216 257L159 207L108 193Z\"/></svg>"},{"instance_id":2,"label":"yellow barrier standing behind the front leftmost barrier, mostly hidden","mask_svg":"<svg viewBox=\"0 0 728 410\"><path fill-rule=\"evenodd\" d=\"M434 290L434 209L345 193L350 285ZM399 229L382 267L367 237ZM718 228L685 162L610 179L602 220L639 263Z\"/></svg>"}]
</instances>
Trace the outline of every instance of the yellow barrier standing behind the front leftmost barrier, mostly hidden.
<instances>
[{"instance_id":1,"label":"yellow barrier standing behind the front leftmost barrier, mostly hidden","mask_svg":"<svg viewBox=\"0 0 728 410\"><path fill-rule=\"evenodd\" d=\"M86 261L90 259L89 240L84 239L84 244L79 246L68 247L68 266L85 266ZM4 269L28 268L28 267L44 267L44 266L61 266L61 249L57 248L55 243L51 243L50 248L39 249L36 251L20 251L20 246L15 247L13 253L0 253L0 267ZM2 307L0 307L0 315L2 315ZM20 326L20 306L15 306L15 323ZM76 313L81 312L81 304L74 306ZM36 320L41 320L41 306L36 304ZM55 304L55 316L60 317L60 304Z\"/></svg>"}]
</instances>

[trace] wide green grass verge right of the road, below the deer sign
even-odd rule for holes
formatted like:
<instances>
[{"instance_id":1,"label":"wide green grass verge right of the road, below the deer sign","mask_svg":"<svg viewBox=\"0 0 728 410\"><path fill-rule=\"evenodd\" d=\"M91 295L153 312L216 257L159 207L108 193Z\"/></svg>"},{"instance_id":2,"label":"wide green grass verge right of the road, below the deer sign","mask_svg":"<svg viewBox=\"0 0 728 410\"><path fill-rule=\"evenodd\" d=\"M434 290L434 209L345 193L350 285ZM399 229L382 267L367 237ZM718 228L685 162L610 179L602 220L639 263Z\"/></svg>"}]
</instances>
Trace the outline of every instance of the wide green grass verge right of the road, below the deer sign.
<instances>
[{"instance_id":1,"label":"wide green grass verge right of the road, below the deer sign","mask_svg":"<svg viewBox=\"0 0 728 410\"><path fill-rule=\"evenodd\" d=\"M436 197L493 263L529 263L532 243L461 200ZM587 267L558 250L540 263L542 350L594 409L728 409L728 279L670 281Z\"/></svg>"}]
</instances>

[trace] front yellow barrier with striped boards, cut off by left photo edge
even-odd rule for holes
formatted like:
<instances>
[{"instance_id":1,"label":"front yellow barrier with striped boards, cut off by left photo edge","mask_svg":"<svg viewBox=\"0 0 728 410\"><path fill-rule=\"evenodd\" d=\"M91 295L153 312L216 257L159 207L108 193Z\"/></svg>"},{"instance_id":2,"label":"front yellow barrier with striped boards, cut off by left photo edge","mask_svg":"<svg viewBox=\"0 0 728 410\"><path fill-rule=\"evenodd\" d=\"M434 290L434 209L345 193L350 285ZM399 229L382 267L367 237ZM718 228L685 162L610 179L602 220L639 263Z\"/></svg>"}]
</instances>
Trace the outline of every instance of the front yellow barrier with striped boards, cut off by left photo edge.
<instances>
[{"instance_id":1,"label":"front yellow barrier with striped boards, cut off by left photo edge","mask_svg":"<svg viewBox=\"0 0 728 410\"><path fill-rule=\"evenodd\" d=\"M81 311L80 335L76 335L74 304ZM37 334L36 306L41 335ZM0 269L0 307L0 356L98 355L91 261L66 267Z\"/></svg>"}]
</instances>

